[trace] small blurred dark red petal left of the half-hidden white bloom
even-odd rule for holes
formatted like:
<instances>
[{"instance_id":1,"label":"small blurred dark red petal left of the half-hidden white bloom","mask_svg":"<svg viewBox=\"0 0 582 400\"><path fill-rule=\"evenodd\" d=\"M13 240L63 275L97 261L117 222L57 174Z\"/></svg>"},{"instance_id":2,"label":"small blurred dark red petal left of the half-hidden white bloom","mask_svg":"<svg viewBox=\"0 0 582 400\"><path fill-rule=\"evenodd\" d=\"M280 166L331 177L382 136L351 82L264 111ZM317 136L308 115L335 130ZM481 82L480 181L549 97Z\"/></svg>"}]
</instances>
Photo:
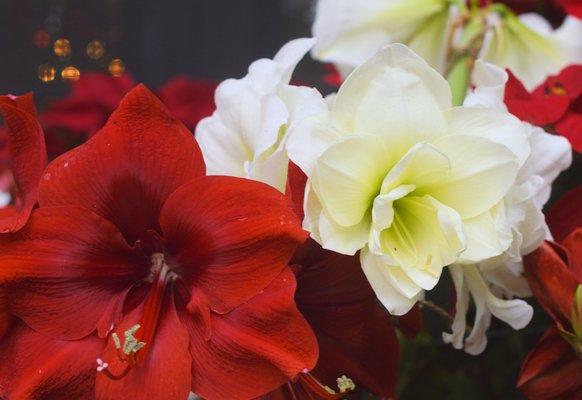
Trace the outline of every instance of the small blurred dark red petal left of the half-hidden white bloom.
<instances>
[{"instance_id":1,"label":"small blurred dark red petal left of the half-hidden white bloom","mask_svg":"<svg viewBox=\"0 0 582 400\"><path fill-rule=\"evenodd\" d=\"M166 83L158 94L173 116L194 129L202 118L212 115L216 109L214 91L217 85L213 81L179 76Z\"/></svg>"}]
</instances>

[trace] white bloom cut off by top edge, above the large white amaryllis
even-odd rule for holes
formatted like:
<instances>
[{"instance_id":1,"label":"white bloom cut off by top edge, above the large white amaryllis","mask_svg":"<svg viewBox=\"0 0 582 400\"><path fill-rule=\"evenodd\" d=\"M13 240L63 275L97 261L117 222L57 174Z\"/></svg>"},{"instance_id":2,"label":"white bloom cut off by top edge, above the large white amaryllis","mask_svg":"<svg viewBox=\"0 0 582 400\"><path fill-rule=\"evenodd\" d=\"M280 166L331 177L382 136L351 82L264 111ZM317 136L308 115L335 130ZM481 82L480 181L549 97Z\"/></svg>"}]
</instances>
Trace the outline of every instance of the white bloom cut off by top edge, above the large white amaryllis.
<instances>
[{"instance_id":1,"label":"white bloom cut off by top edge, above the large white amaryllis","mask_svg":"<svg viewBox=\"0 0 582 400\"><path fill-rule=\"evenodd\" d=\"M313 24L315 59L347 75L389 43L404 43L444 68L454 2L449 0L319 0Z\"/></svg>"}]
</instances>

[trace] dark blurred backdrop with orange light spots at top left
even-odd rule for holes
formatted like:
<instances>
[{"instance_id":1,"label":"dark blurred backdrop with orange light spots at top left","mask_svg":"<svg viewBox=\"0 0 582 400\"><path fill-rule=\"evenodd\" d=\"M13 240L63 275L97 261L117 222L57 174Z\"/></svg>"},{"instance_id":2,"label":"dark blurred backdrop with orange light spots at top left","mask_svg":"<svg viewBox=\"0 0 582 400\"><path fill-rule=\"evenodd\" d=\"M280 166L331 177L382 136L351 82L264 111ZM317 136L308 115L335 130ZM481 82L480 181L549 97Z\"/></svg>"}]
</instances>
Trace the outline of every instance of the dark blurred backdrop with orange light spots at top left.
<instances>
[{"instance_id":1,"label":"dark blurred backdrop with orange light spots at top left","mask_svg":"<svg viewBox=\"0 0 582 400\"><path fill-rule=\"evenodd\" d=\"M61 74L67 67L81 74L125 68L152 87L176 75L239 77L253 60L310 34L312 3L0 0L0 92L58 95L66 90ZM68 43L55 47L58 39ZM299 74L315 68L303 65ZM74 69L65 74L74 76Z\"/></svg>"}]
</instances>

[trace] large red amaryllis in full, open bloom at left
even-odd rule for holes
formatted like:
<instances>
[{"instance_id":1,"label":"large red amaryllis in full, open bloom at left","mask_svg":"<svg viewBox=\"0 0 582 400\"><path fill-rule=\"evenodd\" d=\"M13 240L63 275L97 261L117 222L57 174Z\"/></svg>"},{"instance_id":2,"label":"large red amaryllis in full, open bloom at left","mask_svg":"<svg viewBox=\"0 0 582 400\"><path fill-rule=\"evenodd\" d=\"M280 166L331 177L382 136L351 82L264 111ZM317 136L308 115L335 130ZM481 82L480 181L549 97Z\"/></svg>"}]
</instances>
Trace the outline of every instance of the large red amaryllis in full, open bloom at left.
<instances>
[{"instance_id":1,"label":"large red amaryllis in full, open bloom at left","mask_svg":"<svg viewBox=\"0 0 582 400\"><path fill-rule=\"evenodd\" d=\"M22 321L0 345L0 397L248 399L314 367L288 200L205 176L191 132L145 87L39 193L0 236L0 290Z\"/></svg>"}]
</instances>

